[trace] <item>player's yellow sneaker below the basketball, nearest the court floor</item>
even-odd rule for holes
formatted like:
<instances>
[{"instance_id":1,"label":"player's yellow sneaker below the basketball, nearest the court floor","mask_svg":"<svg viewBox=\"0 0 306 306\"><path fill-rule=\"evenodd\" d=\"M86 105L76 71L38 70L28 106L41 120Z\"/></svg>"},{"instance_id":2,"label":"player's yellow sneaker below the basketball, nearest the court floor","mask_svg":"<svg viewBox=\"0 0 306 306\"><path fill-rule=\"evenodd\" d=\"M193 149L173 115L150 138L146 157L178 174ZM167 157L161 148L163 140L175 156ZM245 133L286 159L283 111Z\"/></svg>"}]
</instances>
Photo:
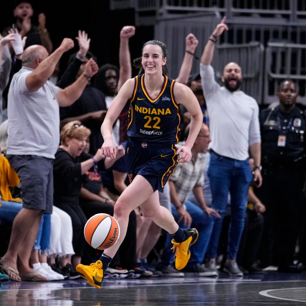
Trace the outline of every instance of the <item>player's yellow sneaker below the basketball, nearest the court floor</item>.
<instances>
[{"instance_id":1,"label":"player's yellow sneaker below the basketball, nearest the court floor","mask_svg":"<svg viewBox=\"0 0 306 306\"><path fill-rule=\"evenodd\" d=\"M75 270L77 270L83 278L87 279L89 285L99 289L101 288L104 271L100 260L90 264L89 266L80 264L75 268Z\"/></svg>"}]
</instances>

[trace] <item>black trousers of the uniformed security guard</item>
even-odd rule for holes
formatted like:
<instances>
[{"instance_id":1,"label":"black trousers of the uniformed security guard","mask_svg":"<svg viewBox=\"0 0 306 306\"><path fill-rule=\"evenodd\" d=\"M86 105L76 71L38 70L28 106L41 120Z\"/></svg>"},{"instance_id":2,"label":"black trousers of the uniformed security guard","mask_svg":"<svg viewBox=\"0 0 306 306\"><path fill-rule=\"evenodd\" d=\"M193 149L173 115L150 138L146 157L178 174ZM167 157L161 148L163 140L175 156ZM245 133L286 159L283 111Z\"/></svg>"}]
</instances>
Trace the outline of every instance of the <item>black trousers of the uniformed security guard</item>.
<instances>
[{"instance_id":1,"label":"black trousers of the uniformed security guard","mask_svg":"<svg viewBox=\"0 0 306 306\"><path fill-rule=\"evenodd\" d=\"M302 169L263 168L263 185L254 192L266 206L259 251L263 266L293 263L303 213Z\"/></svg>"}]
</instances>

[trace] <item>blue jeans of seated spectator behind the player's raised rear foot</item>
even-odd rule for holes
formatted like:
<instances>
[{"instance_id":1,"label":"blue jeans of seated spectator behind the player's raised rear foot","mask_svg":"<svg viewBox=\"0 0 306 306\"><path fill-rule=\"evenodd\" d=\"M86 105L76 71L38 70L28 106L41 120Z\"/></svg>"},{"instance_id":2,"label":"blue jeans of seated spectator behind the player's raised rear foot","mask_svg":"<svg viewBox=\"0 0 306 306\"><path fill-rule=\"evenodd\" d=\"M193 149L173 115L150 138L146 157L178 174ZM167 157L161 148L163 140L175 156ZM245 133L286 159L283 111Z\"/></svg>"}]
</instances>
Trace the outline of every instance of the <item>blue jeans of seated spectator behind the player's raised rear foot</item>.
<instances>
[{"instance_id":1,"label":"blue jeans of seated spectator behind the player's raised rear foot","mask_svg":"<svg viewBox=\"0 0 306 306\"><path fill-rule=\"evenodd\" d=\"M191 256L188 265L201 264L204 260L208 242L210 240L210 235L213 229L214 217L208 217L207 214L197 205L192 202L186 201L186 210L192 217L191 227L195 227L199 232L199 238L197 242L191 247ZM171 204L172 215L177 221L180 214L177 213L174 205ZM179 223L180 227L186 228L186 225L182 222ZM171 251L172 247L172 236L167 234L165 241L164 252L161 257L162 264L168 265L173 262L173 253Z\"/></svg>"}]
</instances>

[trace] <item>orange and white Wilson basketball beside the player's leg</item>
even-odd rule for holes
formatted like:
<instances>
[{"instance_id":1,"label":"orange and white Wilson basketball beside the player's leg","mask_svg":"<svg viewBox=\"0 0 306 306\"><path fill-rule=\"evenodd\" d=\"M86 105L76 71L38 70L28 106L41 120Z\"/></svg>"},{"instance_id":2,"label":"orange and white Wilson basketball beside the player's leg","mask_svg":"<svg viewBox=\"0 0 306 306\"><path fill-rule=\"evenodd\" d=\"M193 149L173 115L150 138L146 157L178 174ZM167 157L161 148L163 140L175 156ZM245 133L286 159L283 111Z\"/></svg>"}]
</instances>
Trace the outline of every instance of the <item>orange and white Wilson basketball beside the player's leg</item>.
<instances>
[{"instance_id":1,"label":"orange and white Wilson basketball beside the player's leg","mask_svg":"<svg viewBox=\"0 0 306 306\"><path fill-rule=\"evenodd\" d=\"M120 227L117 220L108 214L96 214L88 219L84 236L89 245L105 250L114 245L119 238Z\"/></svg>"}]
</instances>

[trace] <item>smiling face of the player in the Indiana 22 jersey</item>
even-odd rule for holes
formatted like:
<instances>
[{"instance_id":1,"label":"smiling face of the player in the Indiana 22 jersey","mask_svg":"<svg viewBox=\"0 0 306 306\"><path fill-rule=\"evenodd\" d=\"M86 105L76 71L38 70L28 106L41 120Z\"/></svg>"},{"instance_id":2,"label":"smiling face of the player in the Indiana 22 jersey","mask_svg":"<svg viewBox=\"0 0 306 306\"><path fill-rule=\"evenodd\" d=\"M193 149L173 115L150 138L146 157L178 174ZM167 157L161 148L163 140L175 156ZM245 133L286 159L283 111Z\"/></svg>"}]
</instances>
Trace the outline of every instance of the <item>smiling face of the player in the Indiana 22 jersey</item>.
<instances>
[{"instance_id":1,"label":"smiling face of the player in the Indiana 22 jersey","mask_svg":"<svg viewBox=\"0 0 306 306\"><path fill-rule=\"evenodd\" d=\"M166 64L162 48L157 44L148 44L143 48L141 64L145 73L155 73L162 70Z\"/></svg>"}]
</instances>

